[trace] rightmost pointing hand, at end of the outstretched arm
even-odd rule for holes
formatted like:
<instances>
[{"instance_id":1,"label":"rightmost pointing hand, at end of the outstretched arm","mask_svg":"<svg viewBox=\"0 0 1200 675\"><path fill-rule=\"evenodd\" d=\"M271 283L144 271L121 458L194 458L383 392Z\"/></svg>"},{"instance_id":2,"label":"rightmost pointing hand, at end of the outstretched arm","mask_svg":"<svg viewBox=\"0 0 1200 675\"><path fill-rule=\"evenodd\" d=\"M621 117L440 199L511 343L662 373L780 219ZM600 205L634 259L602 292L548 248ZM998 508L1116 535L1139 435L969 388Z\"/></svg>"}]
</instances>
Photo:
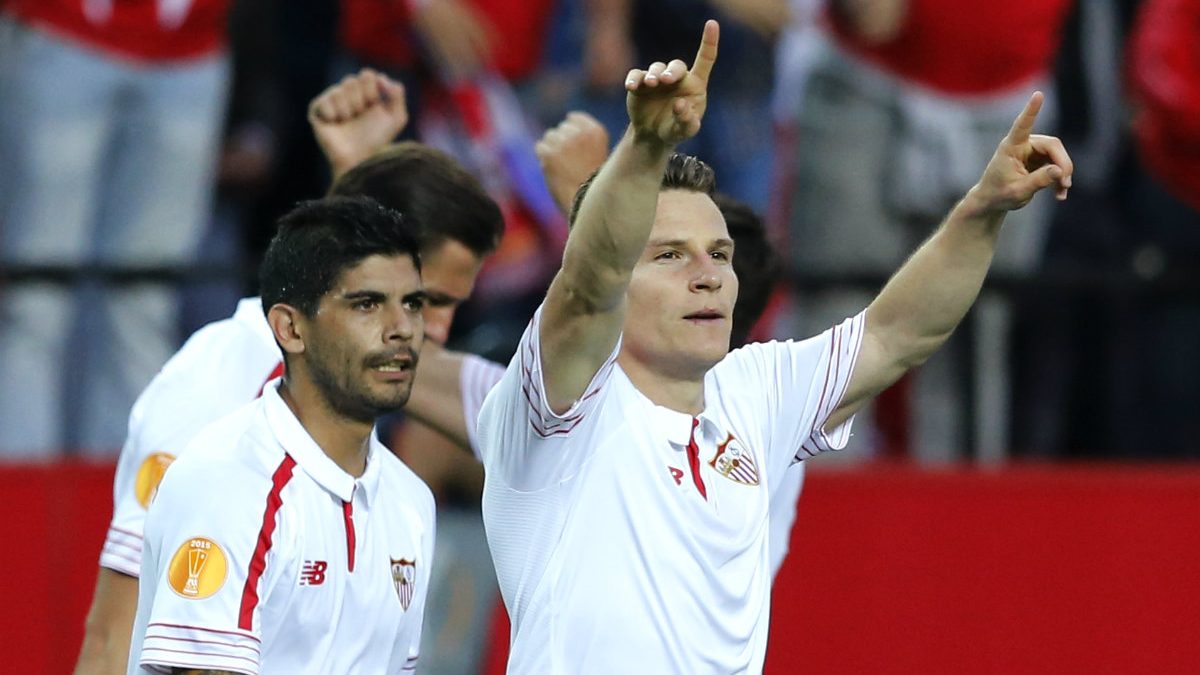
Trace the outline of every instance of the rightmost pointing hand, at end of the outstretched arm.
<instances>
[{"instance_id":1,"label":"rightmost pointing hand, at end of the outstretched arm","mask_svg":"<svg viewBox=\"0 0 1200 675\"><path fill-rule=\"evenodd\" d=\"M1067 198L1075 166L1062 141L1054 136L1030 133L1042 109L1043 95L1034 91L1016 117L1008 136L1000 142L988 162L983 178L971 190L976 203L985 211L1012 211L1030 203L1042 189L1054 186L1055 196Z\"/></svg>"}]
</instances>

